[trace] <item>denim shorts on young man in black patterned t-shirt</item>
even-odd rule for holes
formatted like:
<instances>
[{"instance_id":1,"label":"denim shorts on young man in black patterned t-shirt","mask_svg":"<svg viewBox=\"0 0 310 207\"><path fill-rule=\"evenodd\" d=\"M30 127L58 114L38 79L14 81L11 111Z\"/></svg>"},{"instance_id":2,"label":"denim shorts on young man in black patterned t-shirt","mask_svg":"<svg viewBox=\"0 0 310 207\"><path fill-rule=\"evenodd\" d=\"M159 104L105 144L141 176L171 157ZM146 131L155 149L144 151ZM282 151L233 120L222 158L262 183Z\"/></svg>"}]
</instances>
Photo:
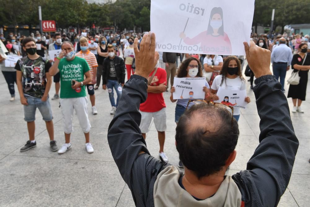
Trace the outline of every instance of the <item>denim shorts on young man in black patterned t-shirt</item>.
<instances>
[{"instance_id":1,"label":"denim shorts on young man in black patterned t-shirt","mask_svg":"<svg viewBox=\"0 0 310 207\"><path fill-rule=\"evenodd\" d=\"M27 98L28 105L24 105L24 120L26 122L32 122L36 119L36 110L39 109L44 121L51 121L53 119L51 104L49 99L43 102L41 98L34 98L25 96Z\"/></svg>"}]
</instances>

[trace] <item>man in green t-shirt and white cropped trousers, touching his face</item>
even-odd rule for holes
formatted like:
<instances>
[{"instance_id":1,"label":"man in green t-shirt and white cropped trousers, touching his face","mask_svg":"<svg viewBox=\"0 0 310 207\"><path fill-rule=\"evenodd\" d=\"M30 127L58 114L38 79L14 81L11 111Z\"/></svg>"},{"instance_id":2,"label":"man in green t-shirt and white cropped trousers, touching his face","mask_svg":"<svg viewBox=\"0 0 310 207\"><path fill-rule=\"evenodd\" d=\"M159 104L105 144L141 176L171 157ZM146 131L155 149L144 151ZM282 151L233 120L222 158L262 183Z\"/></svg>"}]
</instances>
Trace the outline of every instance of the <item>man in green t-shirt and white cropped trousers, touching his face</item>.
<instances>
[{"instance_id":1,"label":"man in green t-shirt and white cropped trousers, touching his face","mask_svg":"<svg viewBox=\"0 0 310 207\"><path fill-rule=\"evenodd\" d=\"M62 145L58 154L63 154L71 148L70 137L73 131L74 110L84 132L86 151L93 153L94 148L90 143L91 124L88 119L88 101L85 90L85 85L91 82L90 69L85 59L75 56L71 42L64 41L61 44L61 49L62 51L49 71L51 76L60 72L60 109L64 122L65 144Z\"/></svg>"}]
</instances>

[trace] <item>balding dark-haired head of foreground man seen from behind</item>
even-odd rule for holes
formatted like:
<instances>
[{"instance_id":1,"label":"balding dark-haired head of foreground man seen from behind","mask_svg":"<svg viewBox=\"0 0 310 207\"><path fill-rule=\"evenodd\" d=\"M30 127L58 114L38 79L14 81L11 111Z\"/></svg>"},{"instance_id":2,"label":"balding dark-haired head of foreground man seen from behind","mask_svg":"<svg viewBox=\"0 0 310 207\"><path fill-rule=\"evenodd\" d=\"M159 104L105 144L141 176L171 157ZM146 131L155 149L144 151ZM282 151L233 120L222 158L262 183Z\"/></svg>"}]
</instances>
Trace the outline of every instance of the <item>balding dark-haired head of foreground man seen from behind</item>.
<instances>
[{"instance_id":1,"label":"balding dark-haired head of foreground man seen from behind","mask_svg":"<svg viewBox=\"0 0 310 207\"><path fill-rule=\"evenodd\" d=\"M198 178L219 172L234 151L239 137L238 123L223 107L193 105L179 119L176 148L184 166ZM203 163L203 164L202 164Z\"/></svg>"}]
</instances>

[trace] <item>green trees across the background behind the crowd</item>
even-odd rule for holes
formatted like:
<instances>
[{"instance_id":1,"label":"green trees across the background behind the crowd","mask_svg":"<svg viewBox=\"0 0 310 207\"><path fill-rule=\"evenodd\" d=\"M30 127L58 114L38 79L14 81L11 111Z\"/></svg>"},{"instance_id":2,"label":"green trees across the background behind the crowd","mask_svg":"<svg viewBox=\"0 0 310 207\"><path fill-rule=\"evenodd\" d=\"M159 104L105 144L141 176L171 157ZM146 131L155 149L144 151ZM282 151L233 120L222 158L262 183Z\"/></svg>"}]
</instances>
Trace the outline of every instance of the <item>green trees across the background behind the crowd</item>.
<instances>
[{"instance_id":1,"label":"green trees across the background behind the crowd","mask_svg":"<svg viewBox=\"0 0 310 207\"><path fill-rule=\"evenodd\" d=\"M43 20L56 20L57 27L111 26L118 29L150 29L150 0L117 0L88 4L86 0L0 0L0 24L38 25L38 6ZM268 26L272 9L275 26L310 23L309 0L256 0L253 25Z\"/></svg>"}]
</instances>

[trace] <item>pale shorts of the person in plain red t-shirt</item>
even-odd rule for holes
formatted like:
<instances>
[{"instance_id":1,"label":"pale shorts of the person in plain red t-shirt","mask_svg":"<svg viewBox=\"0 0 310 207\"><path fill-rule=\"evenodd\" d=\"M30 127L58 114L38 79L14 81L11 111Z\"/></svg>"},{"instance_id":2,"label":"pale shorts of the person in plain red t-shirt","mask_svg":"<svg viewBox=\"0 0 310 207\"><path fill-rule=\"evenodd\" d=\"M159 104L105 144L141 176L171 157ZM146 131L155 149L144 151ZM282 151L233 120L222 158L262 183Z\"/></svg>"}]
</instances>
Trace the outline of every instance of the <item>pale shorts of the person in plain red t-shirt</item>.
<instances>
[{"instance_id":1,"label":"pale shorts of the person in plain red t-shirt","mask_svg":"<svg viewBox=\"0 0 310 207\"><path fill-rule=\"evenodd\" d=\"M166 108L162 108L161 110L156 112L140 111L140 113L141 113L141 123L140 123L141 133L148 133L148 130L152 122L152 118L154 118L155 128L158 132L166 131L167 129Z\"/></svg>"}]
</instances>

